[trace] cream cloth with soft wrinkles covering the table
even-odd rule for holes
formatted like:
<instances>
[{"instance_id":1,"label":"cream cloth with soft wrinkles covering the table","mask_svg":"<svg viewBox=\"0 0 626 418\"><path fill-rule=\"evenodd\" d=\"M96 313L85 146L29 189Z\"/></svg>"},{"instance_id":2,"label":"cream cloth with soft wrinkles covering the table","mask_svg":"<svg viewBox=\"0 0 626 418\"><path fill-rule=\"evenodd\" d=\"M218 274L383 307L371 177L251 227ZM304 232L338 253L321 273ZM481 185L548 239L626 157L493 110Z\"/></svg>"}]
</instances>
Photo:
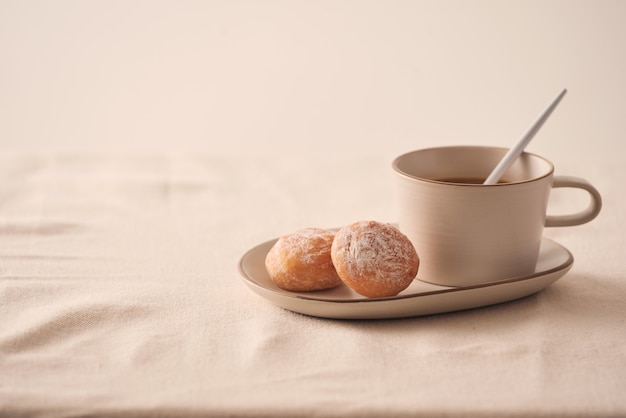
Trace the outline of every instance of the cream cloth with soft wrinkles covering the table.
<instances>
[{"instance_id":1,"label":"cream cloth with soft wrinkles covering the table","mask_svg":"<svg viewBox=\"0 0 626 418\"><path fill-rule=\"evenodd\" d=\"M605 200L546 231L575 257L565 277L496 306L349 321L272 305L237 264L297 228L394 221L386 157L5 156L0 415L624 416L626 169L557 173Z\"/></svg>"}]
</instances>

